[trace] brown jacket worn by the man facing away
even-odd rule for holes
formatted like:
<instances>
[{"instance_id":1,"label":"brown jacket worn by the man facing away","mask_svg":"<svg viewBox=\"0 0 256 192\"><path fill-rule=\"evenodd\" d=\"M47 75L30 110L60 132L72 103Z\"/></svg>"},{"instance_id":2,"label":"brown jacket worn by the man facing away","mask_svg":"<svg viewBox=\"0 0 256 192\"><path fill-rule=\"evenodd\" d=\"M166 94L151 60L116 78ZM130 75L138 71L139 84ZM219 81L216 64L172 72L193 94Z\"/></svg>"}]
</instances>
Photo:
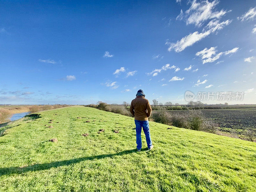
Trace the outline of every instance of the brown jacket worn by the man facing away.
<instances>
[{"instance_id":1,"label":"brown jacket worn by the man facing away","mask_svg":"<svg viewBox=\"0 0 256 192\"><path fill-rule=\"evenodd\" d=\"M137 96L131 102L130 112L135 120L147 121L151 115L152 108L147 99L143 96Z\"/></svg>"}]
</instances>

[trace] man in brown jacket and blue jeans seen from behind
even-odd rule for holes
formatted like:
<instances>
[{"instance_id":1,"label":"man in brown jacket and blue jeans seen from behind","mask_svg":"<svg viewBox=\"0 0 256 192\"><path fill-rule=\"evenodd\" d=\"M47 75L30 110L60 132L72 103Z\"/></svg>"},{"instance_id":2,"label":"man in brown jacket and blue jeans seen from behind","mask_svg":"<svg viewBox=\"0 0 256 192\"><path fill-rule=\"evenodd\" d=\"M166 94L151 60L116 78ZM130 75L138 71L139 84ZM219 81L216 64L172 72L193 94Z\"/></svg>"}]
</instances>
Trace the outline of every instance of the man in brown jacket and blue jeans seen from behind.
<instances>
[{"instance_id":1,"label":"man in brown jacket and blue jeans seen from behind","mask_svg":"<svg viewBox=\"0 0 256 192\"><path fill-rule=\"evenodd\" d=\"M151 106L147 99L145 99L145 94L140 89L137 94L136 98L132 100L130 112L134 116L134 121L136 125L136 143L137 149L140 151L142 143L141 143L141 127L146 136L146 141L148 144L148 150L151 150L154 145L152 145L152 141L150 138L149 132L149 124L148 124L148 117L151 115Z\"/></svg>"}]
</instances>

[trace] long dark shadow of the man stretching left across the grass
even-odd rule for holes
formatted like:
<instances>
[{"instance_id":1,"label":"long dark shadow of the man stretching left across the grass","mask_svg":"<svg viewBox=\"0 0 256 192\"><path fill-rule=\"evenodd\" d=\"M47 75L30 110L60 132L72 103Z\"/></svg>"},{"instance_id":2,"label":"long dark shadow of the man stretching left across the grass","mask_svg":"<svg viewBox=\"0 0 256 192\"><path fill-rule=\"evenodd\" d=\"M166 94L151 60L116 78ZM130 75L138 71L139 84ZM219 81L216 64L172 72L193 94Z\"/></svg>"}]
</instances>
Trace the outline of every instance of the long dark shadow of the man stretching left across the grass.
<instances>
[{"instance_id":1,"label":"long dark shadow of the man stretching left across the grass","mask_svg":"<svg viewBox=\"0 0 256 192\"><path fill-rule=\"evenodd\" d=\"M70 159L70 160L55 161L55 162L52 162L52 163L34 164L34 165L29 165L27 167L0 168L0 176L1 175L10 175L10 174L21 174L21 173L29 172L29 171L46 170L46 169L50 169L52 167L60 167L60 166L63 166L63 165L76 164L76 163L79 163L81 161L86 161L86 160L102 159L102 158L106 158L106 157L111 158L113 156L130 154L130 153L134 153L136 151L137 151L137 149L132 149L132 150L121 151L119 153L114 153L114 154L106 154L106 155L98 155L98 156L90 156L90 157L81 157L81 158L75 158L75 159Z\"/></svg>"}]
</instances>

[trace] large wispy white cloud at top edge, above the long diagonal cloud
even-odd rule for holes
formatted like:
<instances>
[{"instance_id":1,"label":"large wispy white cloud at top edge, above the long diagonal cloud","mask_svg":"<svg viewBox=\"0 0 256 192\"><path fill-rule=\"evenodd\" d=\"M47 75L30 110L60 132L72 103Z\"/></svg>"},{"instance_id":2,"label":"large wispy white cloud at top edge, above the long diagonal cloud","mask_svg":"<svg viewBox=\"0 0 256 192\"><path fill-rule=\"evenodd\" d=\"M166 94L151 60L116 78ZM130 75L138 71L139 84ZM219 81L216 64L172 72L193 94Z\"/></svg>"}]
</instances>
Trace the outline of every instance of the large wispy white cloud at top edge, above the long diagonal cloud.
<instances>
[{"instance_id":1,"label":"large wispy white cloud at top edge, above the long diagonal cloud","mask_svg":"<svg viewBox=\"0 0 256 192\"><path fill-rule=\"evenodd\" d=\"M196 0L188 1L191 5L185 14L180 13L177 19L185 19L186 24L195 24L196 26L201 26L206 20L209 19L220 19L223 15L227 13L223 9L220 11L215 11L216 5L219 3L218 0L212 2L199 1ZM181 16L182 15L182 16Z\"/></svg>"}]
</instances>

